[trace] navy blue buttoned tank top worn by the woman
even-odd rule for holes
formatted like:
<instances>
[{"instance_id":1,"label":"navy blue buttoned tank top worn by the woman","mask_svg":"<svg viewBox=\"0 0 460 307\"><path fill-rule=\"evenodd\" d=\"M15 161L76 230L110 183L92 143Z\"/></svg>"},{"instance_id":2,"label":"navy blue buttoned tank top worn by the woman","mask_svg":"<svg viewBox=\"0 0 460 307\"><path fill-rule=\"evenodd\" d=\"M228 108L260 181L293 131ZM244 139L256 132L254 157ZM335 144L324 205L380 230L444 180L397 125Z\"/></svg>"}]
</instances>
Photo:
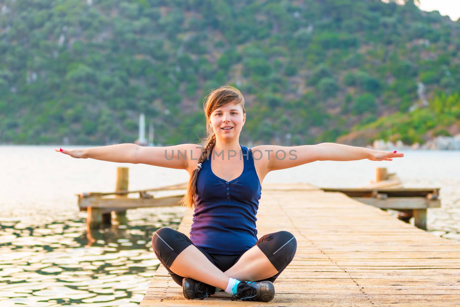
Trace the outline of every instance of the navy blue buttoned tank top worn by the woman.
<instances>
[{"instance_id":1,"label":"navy blue buttoned tank top worn by the woman","mask_svg":"<svg viewBox=\"0 0 460 307\"><path fill-rule=\"evenodd\" d=\"M256 214L262 187L251 151L240 147L244 168L235 179L225 181L214 175L212 152L198 172L190 240L210 254L241 255L257 242Z\"/></svg>"}]
</instances>

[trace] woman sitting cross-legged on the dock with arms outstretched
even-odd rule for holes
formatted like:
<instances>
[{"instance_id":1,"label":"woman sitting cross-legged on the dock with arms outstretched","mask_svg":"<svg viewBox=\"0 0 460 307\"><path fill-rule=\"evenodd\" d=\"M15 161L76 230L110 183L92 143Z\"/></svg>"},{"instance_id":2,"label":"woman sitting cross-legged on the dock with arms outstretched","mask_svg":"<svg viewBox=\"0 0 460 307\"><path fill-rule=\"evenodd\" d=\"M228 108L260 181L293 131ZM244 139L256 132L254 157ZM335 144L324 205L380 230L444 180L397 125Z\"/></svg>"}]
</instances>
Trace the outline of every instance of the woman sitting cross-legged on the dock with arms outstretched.
<instances>
[{"instance_id":1,"label":"woman sitting cross-legged on the dock with arms outstretched","mask_svg":"<svg viewBox=\"0 0 460 307\"><path fill-rule=\"evenodd\" d=\"M195 209L190 239L168 227L158 229L152 237L155 255L173 280L182 285L188 299L203 299L221 289L232 300L273 299L273 282L292 261L297 242L287 231L257 239L255 216L261 182L268 172L318 160L391 161L403 157L403 153L396 151L335 143L261 145L249 149L239 143L246 121L244 98L231 86L212 91L205 98L204 111L207 136L202 146L155 148L118 144L86 149L55 148L74 158L143 163L189 173L183 205Z\"/></svg>"}]
</instances>

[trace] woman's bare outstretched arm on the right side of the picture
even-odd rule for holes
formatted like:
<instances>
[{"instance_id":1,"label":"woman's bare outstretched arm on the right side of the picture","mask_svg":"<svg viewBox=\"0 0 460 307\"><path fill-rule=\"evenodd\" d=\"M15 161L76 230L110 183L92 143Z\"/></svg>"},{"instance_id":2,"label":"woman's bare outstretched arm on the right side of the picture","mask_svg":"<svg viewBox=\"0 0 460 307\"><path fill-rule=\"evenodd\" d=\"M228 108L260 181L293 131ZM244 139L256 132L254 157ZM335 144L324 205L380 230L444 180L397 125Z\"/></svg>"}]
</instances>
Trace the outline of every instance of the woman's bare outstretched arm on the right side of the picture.
<instances>
[{"instance_id":1,"label":"woman's bare outstretched arm on the right side of the picture","mask_svg":"<svg viewBox=\"0 0 460 307\"><path fill-rule=\"evenodd\" d=\"M266 160L267 171L282 170L314 161L391 161L404 153L380 151L337 143L321 143L302 146L261 145L252 148L254 159Z\"/></svg>"}]
</instances>

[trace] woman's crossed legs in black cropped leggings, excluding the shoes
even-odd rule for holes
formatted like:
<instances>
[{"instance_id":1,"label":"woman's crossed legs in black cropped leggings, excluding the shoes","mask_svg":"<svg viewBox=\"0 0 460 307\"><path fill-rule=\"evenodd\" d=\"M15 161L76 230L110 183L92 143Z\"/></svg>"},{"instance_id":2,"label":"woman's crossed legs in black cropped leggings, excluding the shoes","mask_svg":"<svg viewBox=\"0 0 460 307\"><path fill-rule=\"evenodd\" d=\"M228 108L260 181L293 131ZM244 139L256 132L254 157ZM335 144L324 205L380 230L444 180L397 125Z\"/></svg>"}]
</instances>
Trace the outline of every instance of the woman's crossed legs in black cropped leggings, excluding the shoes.
<instances>
[{"instance_id":1,"label":"woman's crossed legs in black cropped leggings, excluding the shoes","mask_svg":"<svg viewBox=\"0 0 460 307\"><path fill-rule=\"evenodd\" d=\"M222 272L211 262L209 254L193 245L183 233L171 228L158 229L152 237L152 246L158 259L179 285L182 285L184 277L189 277L221 289L226 288L230 277L274 281L291 262L297 249L291 233L269 233L243 253L232 267Z\"/></svg>"}]
</instances>

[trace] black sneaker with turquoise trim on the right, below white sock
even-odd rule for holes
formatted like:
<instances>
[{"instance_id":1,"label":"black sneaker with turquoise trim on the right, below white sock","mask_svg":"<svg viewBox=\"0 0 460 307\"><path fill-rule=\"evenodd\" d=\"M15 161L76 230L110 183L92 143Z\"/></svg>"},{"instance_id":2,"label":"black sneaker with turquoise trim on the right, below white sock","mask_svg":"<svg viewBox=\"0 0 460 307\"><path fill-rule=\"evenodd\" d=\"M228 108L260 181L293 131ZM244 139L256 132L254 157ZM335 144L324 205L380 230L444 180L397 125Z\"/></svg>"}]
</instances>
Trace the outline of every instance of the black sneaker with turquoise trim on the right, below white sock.
<instances>
[{"instance_id":1,"label":"black sneaker with turquoise trim on the right, below white sock","mask_svg":"<svg viewBox=\"0 0 460 307\"><path fill-rule=\"evenodd\" d=\"M232 301L234 296L244 301L271 301L275 296L275 287L268 280L242 281L236 287L236 293L230 297Z\"/></svg>"}]
</instances>

